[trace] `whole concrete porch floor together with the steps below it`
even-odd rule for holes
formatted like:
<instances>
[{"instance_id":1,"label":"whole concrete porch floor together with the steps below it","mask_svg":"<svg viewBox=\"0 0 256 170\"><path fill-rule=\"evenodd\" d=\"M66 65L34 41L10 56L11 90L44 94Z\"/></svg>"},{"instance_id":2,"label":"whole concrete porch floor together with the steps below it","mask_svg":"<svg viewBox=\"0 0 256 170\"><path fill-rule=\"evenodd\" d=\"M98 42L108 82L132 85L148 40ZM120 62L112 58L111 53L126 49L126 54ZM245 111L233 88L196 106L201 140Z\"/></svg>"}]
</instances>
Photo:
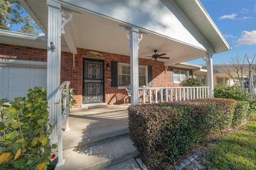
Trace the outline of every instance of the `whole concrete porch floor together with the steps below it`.
<instances>
[{"instance_id":1,"label":"whole concrete porch floor together with the steps below it","mask_svg":"<svg viewBox=\"0 0 256 170\"><path fill-rule=\"evenodd\" d=\"M107 105L104 108L74 108L70 113L70 131L63 131L64 165L56 170L132 170L140 167L129 138L129 105ZM66 122L62 128L66 127ZM55 160L58 160L58 152ZM120 163L121 162L121 163Z\"/></svg>"}]
</instances>

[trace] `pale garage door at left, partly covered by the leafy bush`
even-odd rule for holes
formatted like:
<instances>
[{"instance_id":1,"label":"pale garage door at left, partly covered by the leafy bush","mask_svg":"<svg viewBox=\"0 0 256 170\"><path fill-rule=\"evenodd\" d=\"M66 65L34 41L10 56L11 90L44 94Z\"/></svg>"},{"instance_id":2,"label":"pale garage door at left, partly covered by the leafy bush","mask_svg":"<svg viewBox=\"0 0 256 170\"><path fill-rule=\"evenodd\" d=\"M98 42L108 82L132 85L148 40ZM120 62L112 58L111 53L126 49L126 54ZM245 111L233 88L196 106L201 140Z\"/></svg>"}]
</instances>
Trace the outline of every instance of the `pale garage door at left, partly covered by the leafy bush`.
<instances>
[{"instance_id":1,"label":"pale garage door at left, partly covered by the leafy bush","mask_svg":"<svg viewBox=\"0 0 256 170\"><path fill-rule=\"evenodd\" d=\"M46 75L46 67L0 65L0 99L26 97L27 89L36 86L46 88Z\"/></svg>"}]
</instances>

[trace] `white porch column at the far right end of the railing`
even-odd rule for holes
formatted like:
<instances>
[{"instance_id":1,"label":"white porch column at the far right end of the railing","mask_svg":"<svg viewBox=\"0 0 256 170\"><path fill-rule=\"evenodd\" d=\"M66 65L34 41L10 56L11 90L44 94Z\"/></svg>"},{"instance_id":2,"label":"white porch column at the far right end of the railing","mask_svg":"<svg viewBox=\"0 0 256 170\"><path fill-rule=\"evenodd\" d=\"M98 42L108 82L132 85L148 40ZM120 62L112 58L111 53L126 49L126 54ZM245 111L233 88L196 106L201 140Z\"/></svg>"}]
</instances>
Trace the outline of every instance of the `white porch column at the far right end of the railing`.
<instances>
[{"instance_id":1,"label":"white porch column at the far right end of the railing","mask_svg":"<svg viewBox=\"0 0 256 170\"><path fill-rule=\"evenodd\" d=\"M206 61L206 65L207 65L207 81L208 81L208 86L210 86L209 89L209 97L213 97L213 68L212 68L212 53L207 53L206 54L207 59Z\"/></svg>"}]
</instances>

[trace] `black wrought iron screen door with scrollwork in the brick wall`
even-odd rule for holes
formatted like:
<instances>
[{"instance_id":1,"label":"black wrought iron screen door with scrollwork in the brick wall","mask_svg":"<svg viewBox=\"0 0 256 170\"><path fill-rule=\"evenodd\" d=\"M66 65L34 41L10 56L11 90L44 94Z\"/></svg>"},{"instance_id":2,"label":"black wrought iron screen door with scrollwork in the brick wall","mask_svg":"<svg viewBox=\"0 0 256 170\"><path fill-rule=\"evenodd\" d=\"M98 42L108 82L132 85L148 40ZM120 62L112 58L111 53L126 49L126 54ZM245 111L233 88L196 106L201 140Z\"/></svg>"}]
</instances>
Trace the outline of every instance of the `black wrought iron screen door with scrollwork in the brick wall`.
<instances>
[{"instance_id":1,"label":"black wrought iron screen door with scrollwork in the brick wall","mask_svg":"<svg viewBox=\"0 0 256 170\"><path fill-rule=\"evenodd\" d=\"M105 102L104 60L83 58L83 104Z\"/></svg>"}]
</instances>

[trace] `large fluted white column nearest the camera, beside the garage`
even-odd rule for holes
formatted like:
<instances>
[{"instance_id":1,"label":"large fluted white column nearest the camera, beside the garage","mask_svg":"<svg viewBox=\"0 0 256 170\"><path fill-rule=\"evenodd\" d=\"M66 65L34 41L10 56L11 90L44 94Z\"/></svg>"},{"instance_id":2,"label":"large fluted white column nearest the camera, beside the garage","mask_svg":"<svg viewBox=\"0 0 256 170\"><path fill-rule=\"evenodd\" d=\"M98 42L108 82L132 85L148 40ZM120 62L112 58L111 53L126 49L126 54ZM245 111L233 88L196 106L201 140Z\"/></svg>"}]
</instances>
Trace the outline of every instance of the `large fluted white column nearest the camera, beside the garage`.
<instances>
[{"instance_id":1,"label":"large fluted white column nearest the camera, beside the garage","mask_svg":"<svg viewBox=\"0 0 256 170\"><path fill-rule=\"evenodd\" d=\"M58 142L57 114L61 114L61 103L54 104L56 91L60 86L60 37L61 37L61 6L52 0L48 5L48 51L47 51L47 101L49 106L52 143ZM51 45L52 44L52 45ZM51 48L55 46L55 49Z\"/></svg>"}]
</instances>

